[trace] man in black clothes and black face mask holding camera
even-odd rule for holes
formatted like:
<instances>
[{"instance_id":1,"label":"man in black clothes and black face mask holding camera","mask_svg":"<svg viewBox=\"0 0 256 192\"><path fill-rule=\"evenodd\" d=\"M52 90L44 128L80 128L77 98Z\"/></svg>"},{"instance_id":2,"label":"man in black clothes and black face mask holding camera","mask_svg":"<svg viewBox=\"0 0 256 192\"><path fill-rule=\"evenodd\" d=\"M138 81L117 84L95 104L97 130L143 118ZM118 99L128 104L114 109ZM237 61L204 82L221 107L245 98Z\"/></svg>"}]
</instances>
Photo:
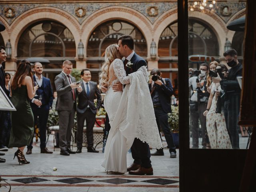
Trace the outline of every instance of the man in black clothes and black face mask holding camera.
<instances>
[{"instance_id":1,"label":"man in black clothes and black face mask holding camera","mask_svg":"<svg viewBox=\"0 0 256 192\"><path fill-rule=\"evenodd\" d=\"M236 77L242 76L242 64L238 62L237 52L234 49L227 50L223 56L231 68L228 70L226 79L220 76L212 78L214 83L220 83L221 92L224 92L224 116L229 131L233 149L239 149L238 115L240 109L241 89ZM220 94L216 92L216 95Z\"/></svg>"}]
</instances>

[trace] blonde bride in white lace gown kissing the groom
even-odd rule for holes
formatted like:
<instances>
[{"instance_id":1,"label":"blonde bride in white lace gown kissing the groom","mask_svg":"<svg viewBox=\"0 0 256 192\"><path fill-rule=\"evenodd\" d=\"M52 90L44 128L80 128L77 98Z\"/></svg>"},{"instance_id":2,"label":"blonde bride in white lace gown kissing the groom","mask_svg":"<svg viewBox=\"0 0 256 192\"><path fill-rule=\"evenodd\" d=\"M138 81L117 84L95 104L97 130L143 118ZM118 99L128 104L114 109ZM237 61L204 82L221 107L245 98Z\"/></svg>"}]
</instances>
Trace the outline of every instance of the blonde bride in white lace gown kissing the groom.
<instances>
[{"instance_id":1,"label":"blonde bride in white lace gown kissing the groom","mask_svg":"<svg viewBox=\"0 0 256 192\"><path fill-rule=\"evenodd\" d=\"M127 172L126 154L134 138L161 148L154 109L148 89L148 71L142 66L126 76L118 45L111 44L105 51L105 62L100 74L100 87L108 88L104 107L110 121L110 132L102 166L114 174ZM123 92L114 92L116 82L126 84Z\"/></svg>"}]
</instances>

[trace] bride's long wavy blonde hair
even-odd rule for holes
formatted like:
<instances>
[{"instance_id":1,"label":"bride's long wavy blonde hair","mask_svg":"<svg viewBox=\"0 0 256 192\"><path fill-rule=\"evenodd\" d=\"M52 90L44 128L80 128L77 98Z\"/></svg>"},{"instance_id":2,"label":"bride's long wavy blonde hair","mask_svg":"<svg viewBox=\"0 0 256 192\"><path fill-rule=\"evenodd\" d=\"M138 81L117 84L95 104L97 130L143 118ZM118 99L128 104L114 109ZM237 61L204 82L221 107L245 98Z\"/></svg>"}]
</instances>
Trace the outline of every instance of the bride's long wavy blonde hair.
<instances>
[{"instance_id":1,"label":"bride's long wavy blonde hair","mask_svg":"<svg viewBox=\"0 0 256 192\"><path fill-rule=\"evenodd\" d=\"M116 59L121 58L119 51L117 50L117 44L111 44L105 50L105 62L102 65L101 73L100 73L100 84L104 86L108 84L108 70L110 64Z\"/></svg>"}]
</instances>

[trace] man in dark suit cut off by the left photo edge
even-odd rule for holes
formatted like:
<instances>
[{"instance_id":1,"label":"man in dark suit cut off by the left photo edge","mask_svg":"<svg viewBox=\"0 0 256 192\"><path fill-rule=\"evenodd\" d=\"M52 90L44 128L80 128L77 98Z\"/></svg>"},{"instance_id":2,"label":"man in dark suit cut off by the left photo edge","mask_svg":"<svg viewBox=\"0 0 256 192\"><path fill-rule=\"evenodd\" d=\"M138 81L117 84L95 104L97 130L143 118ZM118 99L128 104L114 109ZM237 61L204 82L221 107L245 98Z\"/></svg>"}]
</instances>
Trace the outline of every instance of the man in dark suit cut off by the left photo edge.
<instances>
[{"instance_id":1,"label":"man in dark suit cut off by the left photo edge","mask_svg":"<svg viewBox=\"0 0 256 192\"><path fill-rule=\"evenodd\" d=\"M9 96L10 91L7 90L5 88L5 78L4 78L4 69L2 66L2 63L6 61L6 51L4 46L0 46L0 86L2 88L2 90L4 90L4 92L6 93L7 96ZM0 151L8 151L8 148L6 146L4 146L3 143L3 129L4 129L4 121L5 121L5 117L4 117L4 113L2 113L2 111L0 111ZM0 155L4 155L4 153L0 153ZM4 163L5 159L4 158L0 158L0 163Z\"/></svg>"}]
</instances>

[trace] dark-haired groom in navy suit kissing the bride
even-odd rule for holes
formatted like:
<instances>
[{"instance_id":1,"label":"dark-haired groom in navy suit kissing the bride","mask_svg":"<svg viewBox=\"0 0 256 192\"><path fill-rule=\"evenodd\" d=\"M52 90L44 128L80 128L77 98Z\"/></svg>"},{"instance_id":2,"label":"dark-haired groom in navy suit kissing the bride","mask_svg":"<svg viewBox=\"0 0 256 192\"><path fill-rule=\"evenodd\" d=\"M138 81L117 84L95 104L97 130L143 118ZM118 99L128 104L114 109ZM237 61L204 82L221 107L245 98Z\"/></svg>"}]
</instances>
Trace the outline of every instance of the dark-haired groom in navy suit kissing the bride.
<instances>
[{"instance_id":1,"label":"dark-haired groom in navy suit kissing the bride","mask_svg":"<svg viewBox=\"0 0 256 192\"><path fill-rule=\"evenodd\" d=\"M141 66L147 66L146 61L134 52L134 41L130 35L122 35L118 38L118 50L121 56L125 57L124 69L126 75L136 72ZM127 65L127 66L126 66ZM122 84L116 83L112 86L114 91L122 91ZM102 92L106 92L106 88L102 86ZM132 158L134 162L127 168L129 174L132 175L153 175L153 168L150 161L150 149L147 143L143 143L138 138L134 139L131 147Z\"/></svg>"}]
</instances>

